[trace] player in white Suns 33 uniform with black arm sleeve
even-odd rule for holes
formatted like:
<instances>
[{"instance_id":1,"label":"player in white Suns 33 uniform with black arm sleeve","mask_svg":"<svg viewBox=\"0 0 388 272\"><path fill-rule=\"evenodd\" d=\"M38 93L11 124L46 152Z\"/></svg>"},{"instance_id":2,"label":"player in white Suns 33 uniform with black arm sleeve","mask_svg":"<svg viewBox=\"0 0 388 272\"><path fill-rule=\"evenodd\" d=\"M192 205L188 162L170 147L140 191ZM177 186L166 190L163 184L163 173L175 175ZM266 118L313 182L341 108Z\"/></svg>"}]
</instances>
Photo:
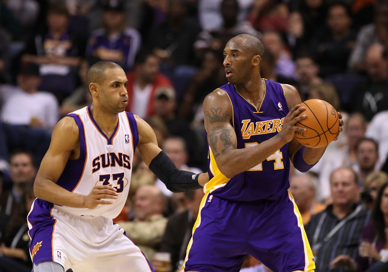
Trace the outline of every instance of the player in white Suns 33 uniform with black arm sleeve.
<instances>
[{"instance_id":1,"label":"player in white Suns 33 uniform with black arm sleeve","mask_svg":"<svg viewBox=\"0 0 388 272\"><path fill-rule=\"evenodd\" d=\"M151 127L124 111L128 80L119 65L101 61L86 77L92 105L59 120L36 175L28 214L33 271L154 271L112 222L127 199L135 148L172 191L201 188L208 175L176 169Z\"/></svg>"}]
</instances>

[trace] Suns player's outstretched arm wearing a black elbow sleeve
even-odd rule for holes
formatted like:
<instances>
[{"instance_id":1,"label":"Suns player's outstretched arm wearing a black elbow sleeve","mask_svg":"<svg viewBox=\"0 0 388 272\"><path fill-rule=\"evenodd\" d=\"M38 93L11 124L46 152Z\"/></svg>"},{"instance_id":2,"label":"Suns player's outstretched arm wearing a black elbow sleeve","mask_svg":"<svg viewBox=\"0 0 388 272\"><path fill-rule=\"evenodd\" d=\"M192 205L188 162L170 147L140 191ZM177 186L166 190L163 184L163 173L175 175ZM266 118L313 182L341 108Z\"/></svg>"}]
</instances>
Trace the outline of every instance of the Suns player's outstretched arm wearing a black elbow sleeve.
<instances>
[{"instance_id":1,"label":"Suns player's outstretched arm wearing a black elbow sleeve","mask_svg":"<svg viewBox=\"0 0 388 272\"><path fill-rule=\"evenodd\" d=\"M156 135L152 130L152 128L149 126L149 124L147 124L147 122L145 122L137 115L135 115L135 119L137 123L137 130L139 131L139 143L137 144L137 148L139 149L140 156L142 157L144 163L148 167L150 167L152 160L154 160L159 155L159 153L161 153L162 150L159 148L158 142L156 141ZM163 181L163 183L166 184L166 187L172 192L183 192L185 190L186 191L189 190L189 188L192 187L191 183L193 180L187 180L185 178L177 180L176 178L174 178L174 175L177 173L182 174L182 173L189 173L189 172L176 169L176 166L173 164L173 162L168 157L167 159L168 159L167 163L169 164L169 166L163 167L163 169L160 166L158 166L160 169L157 169L158 173L154 173L154 174L156 174L156 176L158 176L158 178L161 181ZM171 165L173 166L170 167ZM150 167L150 168L153 168L153 167ZM170 172L170 169L167 169L167 168L173 168L173 172ZM154 171L153 169L151 170ZM159 175L159 173L163 173L163 175L166 176L168 181L166 182L165 179ZM191 174L194 174L194 173L191 173ZM198 183L201 187L203 187L208 181L209 181L208 174L206 173L199 174ZM187 189L184 189L186 187ZM200 187L197 186L197 188L200 188Z\"/></svg>"}]
</instances>

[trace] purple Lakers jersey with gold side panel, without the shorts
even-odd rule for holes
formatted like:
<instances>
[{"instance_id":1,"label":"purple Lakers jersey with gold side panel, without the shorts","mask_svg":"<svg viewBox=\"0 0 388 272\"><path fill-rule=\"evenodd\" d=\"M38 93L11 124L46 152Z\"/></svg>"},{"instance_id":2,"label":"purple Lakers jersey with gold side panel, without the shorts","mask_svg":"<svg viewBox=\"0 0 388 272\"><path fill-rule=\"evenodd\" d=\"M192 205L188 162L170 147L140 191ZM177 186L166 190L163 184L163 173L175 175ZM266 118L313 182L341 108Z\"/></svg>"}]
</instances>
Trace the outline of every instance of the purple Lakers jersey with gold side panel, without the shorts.
<instances>
[{"instance_id":1,"label":"purple Lakers jersey with gold side panel, without the shorts","mask_svg":"<svg viewBox=\"0 0 388 272\"><path fill-rule=\"evenodd\" d=\"M242 97L233 84L219 88L228 94L232 103L237 148L260 145L274 137L281 131L284 117L289 112L282 85L267 79L264 82L264 98L259 108ZM230 179L219 171L210 146L208 156L210 180L204 187L205 193L234 201L255 201L276 199L289 188L288 144L262 163Z\"/></svg>"}]
</instances>

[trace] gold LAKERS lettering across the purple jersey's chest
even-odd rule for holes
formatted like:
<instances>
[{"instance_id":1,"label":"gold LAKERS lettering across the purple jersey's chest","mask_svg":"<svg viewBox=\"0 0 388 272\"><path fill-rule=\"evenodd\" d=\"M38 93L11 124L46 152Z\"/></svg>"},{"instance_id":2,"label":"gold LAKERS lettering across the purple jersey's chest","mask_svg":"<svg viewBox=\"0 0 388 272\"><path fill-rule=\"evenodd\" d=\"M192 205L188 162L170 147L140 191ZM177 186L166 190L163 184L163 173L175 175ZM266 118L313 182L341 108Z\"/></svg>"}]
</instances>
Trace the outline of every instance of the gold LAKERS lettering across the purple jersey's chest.
<instances>
[{"instance_id":1,"label":"gold LAKERS lettering across the purple jersey's chest","mask_svg":"<svg viewBox=\"0 0 388 272\"><path fill-rule=\"evenodd\" d=\"M242 139L249 139L252 135L280 132L284 122L282 119L272 119L259 122L251 122L251 119L242 120Z\"/></svg>"}]
</instances>

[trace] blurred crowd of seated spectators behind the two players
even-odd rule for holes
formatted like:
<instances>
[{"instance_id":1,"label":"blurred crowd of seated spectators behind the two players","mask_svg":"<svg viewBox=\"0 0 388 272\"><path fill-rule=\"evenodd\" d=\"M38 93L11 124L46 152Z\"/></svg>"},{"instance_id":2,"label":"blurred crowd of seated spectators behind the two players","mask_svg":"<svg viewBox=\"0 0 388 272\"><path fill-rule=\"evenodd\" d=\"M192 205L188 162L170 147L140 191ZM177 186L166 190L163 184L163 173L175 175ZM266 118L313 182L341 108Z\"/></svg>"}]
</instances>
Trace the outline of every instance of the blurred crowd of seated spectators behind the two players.
<instances>
[{"instance_id":1,"label":"blurred crowd of seated spectators behind the two players","mask_svg":"<svg viewBox=\"0 0 388 272\"><path fill-rule=\"evenodd\" d=\"M345 121L317 165L289 178L316 271L388 271L388 0L0 0L0 272L31 271L33 180L56 122L91 103L91 65L120 64L126 110L179 169L200 173L202 102L227 83L222 51L241 33L264 45L263 78ZM132 169L114 222L174 272L204 194L171 193L137 154ZM241 271L270 272L251 256Z\"/></svg>"}]
</instances>

